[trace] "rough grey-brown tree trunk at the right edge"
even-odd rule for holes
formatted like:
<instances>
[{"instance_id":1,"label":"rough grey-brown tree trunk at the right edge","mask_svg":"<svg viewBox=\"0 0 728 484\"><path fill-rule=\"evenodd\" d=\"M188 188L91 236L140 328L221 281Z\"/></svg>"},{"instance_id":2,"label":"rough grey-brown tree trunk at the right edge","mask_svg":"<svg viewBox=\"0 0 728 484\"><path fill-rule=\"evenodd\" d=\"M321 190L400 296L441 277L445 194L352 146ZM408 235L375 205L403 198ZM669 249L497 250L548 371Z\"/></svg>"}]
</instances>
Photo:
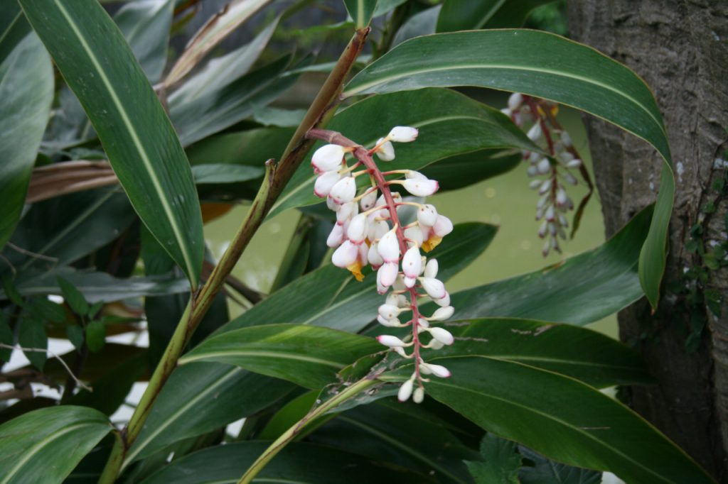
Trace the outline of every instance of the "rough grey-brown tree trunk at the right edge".
<instances>
[{"instance_id":1,"label":"rough grey-brown tree trunk at the right edge","mask_svg":"<svg viewBox=\"0 0 728 484\"><path fill-rule=\"evenodd\" d=\"M690 228L703 225L703 241L725 241L728 201L707 215L716 197L719 146L728 138L728 1L572 0L571 36L625 63L657 97L668 129L677 178L670 222L668 269L660 309L645 302L620 313L620 337L636 344L659 384L634 387L630 405L681 445L720 482L728 482L728 270L710 271L704 289L721 296L722 316L703 307L707 331L686 350L690 315L684 270L702 265L685 247ZM612 235L652 203L660 160L645 142L593 118L585 120L596 180ZM724 145L724 147L727 145Z\"/></svg>"}]
</instances>

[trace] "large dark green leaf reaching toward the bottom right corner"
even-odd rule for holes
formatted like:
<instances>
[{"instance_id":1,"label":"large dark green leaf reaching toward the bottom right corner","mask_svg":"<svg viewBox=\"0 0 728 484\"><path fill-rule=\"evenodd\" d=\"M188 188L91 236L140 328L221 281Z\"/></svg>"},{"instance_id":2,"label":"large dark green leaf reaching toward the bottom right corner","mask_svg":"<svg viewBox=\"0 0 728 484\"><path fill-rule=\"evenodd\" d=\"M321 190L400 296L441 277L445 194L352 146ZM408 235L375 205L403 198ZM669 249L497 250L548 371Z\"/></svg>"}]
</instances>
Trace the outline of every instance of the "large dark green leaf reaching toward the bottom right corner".
<instances>
[{"instance_id":1,"label":"large dark green leaf reaching toward the bottom right corner","mask_svg":"<svg viewBox=\"0 0 728 484\"><path fill-rule=\"evenodd\" d=\"M633 483L712 483L695 461L629 408L566 376L483 357L438 358L452 376L425 391L488 432L549 459ZM412 368L384 379L403 381Z\"/></svg>"}]
</instances>

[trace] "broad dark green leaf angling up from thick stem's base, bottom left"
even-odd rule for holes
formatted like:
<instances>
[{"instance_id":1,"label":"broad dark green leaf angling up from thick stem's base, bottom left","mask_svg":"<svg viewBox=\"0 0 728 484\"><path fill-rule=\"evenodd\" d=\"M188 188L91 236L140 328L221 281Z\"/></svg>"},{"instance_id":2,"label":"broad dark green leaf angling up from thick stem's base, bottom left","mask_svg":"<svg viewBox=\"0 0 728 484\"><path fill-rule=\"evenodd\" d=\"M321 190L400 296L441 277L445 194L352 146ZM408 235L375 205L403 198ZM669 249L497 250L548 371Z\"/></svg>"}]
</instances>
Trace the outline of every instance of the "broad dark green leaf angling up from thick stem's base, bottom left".
<instances>
[{"instance_id":1,"label":"broad dark green leaf angling up from thick stem's base, bottom left","mask_svg":"<svg viewBox=\"0 0 728 484\"><path fill-rule=\"evenodd\" d=\"M124 467L178 440L255 414L293 388L288 382L221 363L190 363L176 368L127 453Z\"/></svg>"}]
</instances>

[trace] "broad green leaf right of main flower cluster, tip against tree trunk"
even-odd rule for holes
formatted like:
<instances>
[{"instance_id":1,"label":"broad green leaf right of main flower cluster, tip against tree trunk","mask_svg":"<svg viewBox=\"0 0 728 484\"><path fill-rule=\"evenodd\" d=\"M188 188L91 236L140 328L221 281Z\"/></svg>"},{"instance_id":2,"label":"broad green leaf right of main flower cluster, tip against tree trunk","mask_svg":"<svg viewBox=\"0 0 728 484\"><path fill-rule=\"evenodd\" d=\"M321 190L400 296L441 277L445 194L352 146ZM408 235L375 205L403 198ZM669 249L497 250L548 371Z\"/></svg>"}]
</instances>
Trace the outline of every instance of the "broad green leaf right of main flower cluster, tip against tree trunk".
<instances>
[{"instance_id":1,"label":"broad green leaf right of main flower cluster, tip against tree trunk","mask_svg":"<svg viewBox=\"0 0 728 484\"><path fill-rule=\"evenodd\" d=\"M453 294L454 318L497 316L585 325L627 307L643 294L637 260L651 214L652 207L644 209L592 251ZM429 314L435 305L423 310Z\"/></svg>"}]
</instances>

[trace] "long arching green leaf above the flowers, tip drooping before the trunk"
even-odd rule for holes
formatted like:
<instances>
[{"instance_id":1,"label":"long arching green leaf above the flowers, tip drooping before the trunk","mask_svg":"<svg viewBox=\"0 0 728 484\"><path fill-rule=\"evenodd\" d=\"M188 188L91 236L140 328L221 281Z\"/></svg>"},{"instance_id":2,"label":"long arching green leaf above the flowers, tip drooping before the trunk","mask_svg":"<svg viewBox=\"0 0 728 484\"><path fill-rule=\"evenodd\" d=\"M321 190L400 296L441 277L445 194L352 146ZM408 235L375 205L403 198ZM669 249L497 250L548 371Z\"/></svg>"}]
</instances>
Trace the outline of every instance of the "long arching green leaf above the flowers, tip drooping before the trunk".
<instances>
[{"instance_id":1,"label":"long arching green leaf above the flowers, tip drooping before the trunk","mask_svg":"<svg viewBox=\"0 0 728 484\"><path fill-rule=\"evenodd\" d=\"M480 86L542 97L603 118L654 146L665 162L639 273L657 307L675 181L662 116L641 78L594 49L551 33L467 31L400 44L358 73L343 96L430 86Z\"/></svg>"}]
</instances>

